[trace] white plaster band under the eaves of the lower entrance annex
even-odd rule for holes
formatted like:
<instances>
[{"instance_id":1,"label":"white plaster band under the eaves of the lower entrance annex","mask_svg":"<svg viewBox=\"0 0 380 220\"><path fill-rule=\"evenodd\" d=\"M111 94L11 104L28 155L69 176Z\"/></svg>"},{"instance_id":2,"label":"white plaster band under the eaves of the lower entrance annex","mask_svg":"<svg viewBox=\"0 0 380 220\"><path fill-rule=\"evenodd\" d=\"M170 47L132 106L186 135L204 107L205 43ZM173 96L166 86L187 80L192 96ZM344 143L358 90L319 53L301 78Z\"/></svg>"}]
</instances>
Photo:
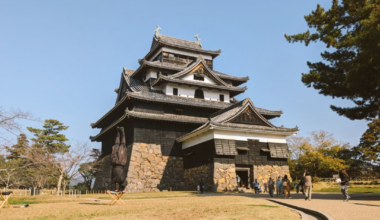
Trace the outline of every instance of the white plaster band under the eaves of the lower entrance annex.
<instances>
[{"instance_id":1,"label":"white plaster band under the eaves of the lower entrance annex","mask_svg":"<svg viewBox=\"0 0 380 220\"><path fill-rule=\"evenodd\" d=\"M196 137L182 142L182 149L203 143L211 139L248 141L248 139L259 140L264 143L284 143L286 144L287 135L274 135L265 133L244 133L238 131L209 130Z\"/></svg>"}]
</instances>

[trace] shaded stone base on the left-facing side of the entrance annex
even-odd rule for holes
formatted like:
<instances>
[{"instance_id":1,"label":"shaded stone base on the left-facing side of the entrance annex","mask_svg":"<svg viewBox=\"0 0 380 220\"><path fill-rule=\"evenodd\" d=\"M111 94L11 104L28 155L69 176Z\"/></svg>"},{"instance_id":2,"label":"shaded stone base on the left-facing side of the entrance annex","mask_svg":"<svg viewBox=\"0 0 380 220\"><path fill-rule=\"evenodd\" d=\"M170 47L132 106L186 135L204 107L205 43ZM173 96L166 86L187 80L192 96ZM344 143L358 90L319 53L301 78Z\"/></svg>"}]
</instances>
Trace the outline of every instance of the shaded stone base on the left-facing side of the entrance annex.
<instances>
[{"instance_id":1,"label":"shaded stone base on the left-facing side of the entrance annex","mask_svg":"<svg viewBox=\"0 0 380 220\"><path fill-rule=\"evenodd\" d=\"M205 191L213 190L213 167L212 163L184 170L186 190L197 190L198 184L203 180Z\"/></svg>"}]
</instances>

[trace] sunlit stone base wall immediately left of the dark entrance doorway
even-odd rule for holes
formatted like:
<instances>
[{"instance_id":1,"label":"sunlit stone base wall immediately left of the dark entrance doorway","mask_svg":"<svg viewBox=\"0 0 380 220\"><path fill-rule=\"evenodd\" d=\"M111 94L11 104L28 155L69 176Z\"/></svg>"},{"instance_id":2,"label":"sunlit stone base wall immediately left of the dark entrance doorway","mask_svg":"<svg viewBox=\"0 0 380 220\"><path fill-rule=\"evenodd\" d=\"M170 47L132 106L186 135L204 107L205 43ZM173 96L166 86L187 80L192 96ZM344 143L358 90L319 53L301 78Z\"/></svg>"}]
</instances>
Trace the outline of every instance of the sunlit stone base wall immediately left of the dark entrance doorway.
<instances>
[{"instance_id":1,"label":"sunlit stone base wall immediately left of the dark entrance doorway","mask_svg":"<svg viewBox=\"0 0 380 220\"><path fill-rule=\"evenodd\" d=\"M237 189L235 164L214 164L213 191L234 191Z\"/></svg>"}]
</instances>

